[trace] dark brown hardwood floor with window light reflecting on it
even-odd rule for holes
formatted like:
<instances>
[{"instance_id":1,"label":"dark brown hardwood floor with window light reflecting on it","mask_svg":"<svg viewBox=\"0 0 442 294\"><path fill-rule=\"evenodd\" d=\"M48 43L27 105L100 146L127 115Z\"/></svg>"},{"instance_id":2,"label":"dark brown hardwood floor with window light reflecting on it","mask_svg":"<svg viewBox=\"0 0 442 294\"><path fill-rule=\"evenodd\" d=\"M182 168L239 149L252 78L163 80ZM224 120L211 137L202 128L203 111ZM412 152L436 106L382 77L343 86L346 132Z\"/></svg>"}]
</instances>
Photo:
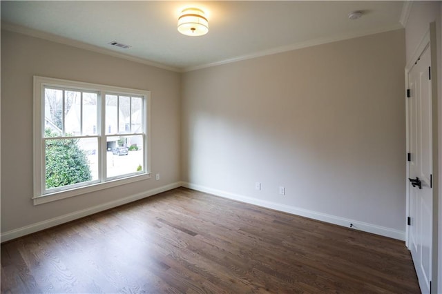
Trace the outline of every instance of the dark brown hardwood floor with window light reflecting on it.
<instances>
[{"instance_id":1,"label":"dark brown hardwood floor with window light reflecting on it","mask_svg":"<svg viewBox=\"0 0 442 294\"><path fill-rule=\"evenodd\" d=\"M404 242L177 188L1 245L1 293L420 293Z\"/></svg>"}]
</instances>

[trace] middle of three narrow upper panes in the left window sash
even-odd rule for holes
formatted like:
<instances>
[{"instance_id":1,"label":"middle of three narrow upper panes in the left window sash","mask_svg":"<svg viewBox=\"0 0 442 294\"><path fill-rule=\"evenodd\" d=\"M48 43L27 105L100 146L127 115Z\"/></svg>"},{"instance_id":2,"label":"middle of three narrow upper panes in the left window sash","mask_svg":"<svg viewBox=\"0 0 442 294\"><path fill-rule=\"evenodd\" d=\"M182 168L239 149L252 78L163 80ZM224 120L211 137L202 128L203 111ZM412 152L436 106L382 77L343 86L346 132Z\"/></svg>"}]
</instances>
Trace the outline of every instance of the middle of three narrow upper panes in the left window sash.
<instances>
[{"instance_id":1,"label":"middle of three narrow upper panes in the left window sash","mask_svg":"<svg viewBox=\"0 0 442 294\"><path fill-rule=\"evenodd\" d=\"M64 131L65 136L81 135L81 92L65 91Z\"/></svg>"}]
</instances>

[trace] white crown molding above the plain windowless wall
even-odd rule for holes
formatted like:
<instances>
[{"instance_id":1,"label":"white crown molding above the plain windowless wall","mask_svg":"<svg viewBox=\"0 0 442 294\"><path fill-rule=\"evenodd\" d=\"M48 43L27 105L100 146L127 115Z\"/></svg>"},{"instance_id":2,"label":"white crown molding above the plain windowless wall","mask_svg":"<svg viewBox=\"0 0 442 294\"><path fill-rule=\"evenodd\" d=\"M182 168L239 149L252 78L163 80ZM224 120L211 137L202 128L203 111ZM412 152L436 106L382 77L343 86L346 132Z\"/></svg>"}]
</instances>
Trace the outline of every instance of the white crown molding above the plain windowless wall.
<instances>
[{"instance_id":1,"label":"white crown molding above the plain windowless wall","mask_svg":"<svg viewBox=\"0 0 442 294\"><path fill-rule=\"evenodd\" d=\"M269 50L253 52L248 55L241 55L238 57L224 59L224 60L216 61L213 63L206 63L206 64L202 64L200 66L191 66L189 68L184 68L182 70L182 72L190 72L193 70L200 70L202 68L211 68L212 66L221 66L221 65L227 64L227 63L233 63L233 62L243 61L243 60L247 60L247 59L254 59L254 58L258 58L258 57L264 57L267 55L274 55L274 54L287 52L287 51L291 51L291 50L297 50L297 49L307 48L307 47L311 47L311 46L323 45L325 43L333 43L336 41L354 39L357 37L364 37L367 35L374 35L374 34L378 34L381 32L390 32L392 30L400 30L400 29L403 29L403 26L398 23L397 25L394 25L394 26L388 26L385 28L378 28L376 30L365 30L363 32L355 32L355 33L350 33L350 34L336 35L334 37L324 37L324 38L312 39L312 40L305 41L305 42L295 43L295 44L292 44L289 46L272 48Z\"/></svg>"}]
</instances>

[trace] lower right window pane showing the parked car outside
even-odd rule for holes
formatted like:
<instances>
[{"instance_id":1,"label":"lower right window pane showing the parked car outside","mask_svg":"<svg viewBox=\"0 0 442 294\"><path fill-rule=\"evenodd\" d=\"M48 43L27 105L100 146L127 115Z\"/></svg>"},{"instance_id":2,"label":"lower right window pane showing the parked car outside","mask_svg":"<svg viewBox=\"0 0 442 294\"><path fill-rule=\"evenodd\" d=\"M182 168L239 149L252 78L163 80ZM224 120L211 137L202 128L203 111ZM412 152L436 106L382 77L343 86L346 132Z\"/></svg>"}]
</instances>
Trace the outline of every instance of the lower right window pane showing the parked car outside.
<instances>
[{"instance_id":1,"label":"lower right window pane showing the parked car outside","mask_svg":"<svg viewBox=\"0 0 442 294\"><path fill-rule=\"evenodd\" d=\"M142 135L107 137L107 144L107 177L144 171Z\"/></svg>"}]
</instances>

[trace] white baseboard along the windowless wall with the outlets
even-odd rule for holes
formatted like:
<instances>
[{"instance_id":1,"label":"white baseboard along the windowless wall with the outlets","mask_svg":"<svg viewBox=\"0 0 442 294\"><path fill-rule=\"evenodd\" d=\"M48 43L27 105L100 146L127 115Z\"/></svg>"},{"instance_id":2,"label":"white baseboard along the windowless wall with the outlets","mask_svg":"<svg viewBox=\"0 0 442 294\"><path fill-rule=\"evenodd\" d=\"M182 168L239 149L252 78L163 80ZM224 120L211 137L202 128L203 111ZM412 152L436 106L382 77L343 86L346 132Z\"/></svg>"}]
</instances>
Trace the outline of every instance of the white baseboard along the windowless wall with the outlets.
<instances>
[{"instance_id":1,"label":"white baseboard along the windowless wall with the outlets","mask_svg":"<svg viewBox=\"0 0 442 294\"><path fill-rule=\"evenodd\" d=\"M278 204L276 202L269 202L266 200L256 199L253 197L247 197L247 196L243 196L243 195L233 194L233 193L229 193L229 192L226 192L223 190L216 190L216 189L212 189L212 188L208 188L208 187L200 186L200 185L196 185L196 184L191 184L191 183L187 183L187 182L182 182L182 186L186 187L186 188L193 189L193 190L198 190L200 192L209 193L212 195L237 200L240 202L245 202L245 203L254 204L257 206L262 206L265 208L280 210L285 213L291 213L293 215L300 215L302 217L309 217L311 219L316 219L316 220L319 220L322 222L328 222L330 224L337 224L339 226L345 226L347 228L350 227L350 224L353 224L353 228L357 229L359 231L374 233L376 235L381 235L381 236L405 241L405 231L398 231L394 228L387 228L384 226L377 226L375 224L368 224L366 222L359 222L354 219L347 219L345 217L338 217L336 215L327 215L326 213L318 213L317 211L314 211L314 210L307 210L307 209L298 208L295 206Z\"/></svg>"}]
</instances>

